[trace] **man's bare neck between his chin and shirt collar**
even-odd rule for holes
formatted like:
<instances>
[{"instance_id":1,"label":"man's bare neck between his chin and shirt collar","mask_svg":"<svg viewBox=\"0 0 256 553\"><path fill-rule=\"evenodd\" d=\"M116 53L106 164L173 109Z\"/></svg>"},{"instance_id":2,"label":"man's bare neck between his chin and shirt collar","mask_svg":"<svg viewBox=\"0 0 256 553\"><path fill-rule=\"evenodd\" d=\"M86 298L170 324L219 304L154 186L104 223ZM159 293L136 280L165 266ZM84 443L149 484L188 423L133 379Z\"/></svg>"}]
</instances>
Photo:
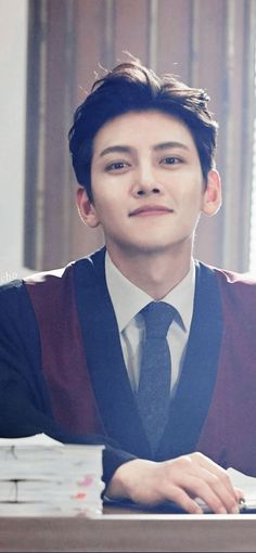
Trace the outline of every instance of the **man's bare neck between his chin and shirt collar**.
<instances>
[{"instance_id":1,"label":"man's bare neck between his chin and shirt collar","mask_svg":"<svg viewBox=\"0 0 256 553\"><path fill-rule=\"evenodd\" d=\"M108 254L117 269L154 299L165 297L185 276L191 266L191 249L183 252L182 255L129 253L129 256L116 256L113 252Z\"/></svg>"}]
</instances>

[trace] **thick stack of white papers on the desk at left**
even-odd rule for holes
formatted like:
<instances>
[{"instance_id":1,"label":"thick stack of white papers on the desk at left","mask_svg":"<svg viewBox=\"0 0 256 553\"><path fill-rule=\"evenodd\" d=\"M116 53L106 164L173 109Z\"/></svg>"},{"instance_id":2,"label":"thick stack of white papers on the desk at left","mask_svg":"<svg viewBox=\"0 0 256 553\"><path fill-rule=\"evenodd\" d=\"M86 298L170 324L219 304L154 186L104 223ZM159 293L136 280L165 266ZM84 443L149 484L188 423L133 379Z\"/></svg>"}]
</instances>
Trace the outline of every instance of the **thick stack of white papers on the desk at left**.
<instances>
[{"instance_id":1,"label":"thick stack of white papers on the desk at left","mask_svg":"<svg viewBox=\"0 0 256 553\"><path fill-rule=\"evenodd\" d=\"M0 515L101 514L103 449L43 434L0 439Z\"/></svg>"}]
</instances>

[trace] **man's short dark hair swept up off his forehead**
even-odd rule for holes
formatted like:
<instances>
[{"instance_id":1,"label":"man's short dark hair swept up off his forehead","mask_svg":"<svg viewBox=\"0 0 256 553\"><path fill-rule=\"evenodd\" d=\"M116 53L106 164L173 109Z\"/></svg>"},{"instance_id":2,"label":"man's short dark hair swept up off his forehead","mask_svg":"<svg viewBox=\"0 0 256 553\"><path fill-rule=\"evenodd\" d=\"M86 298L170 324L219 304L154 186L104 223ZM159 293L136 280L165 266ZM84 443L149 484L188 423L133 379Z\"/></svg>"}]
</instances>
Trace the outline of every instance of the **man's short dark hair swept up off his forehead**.
<instances>
[{"instance_id":1,"label":"man's short dark hair swept up off his forehead","mask_svg":"<svg viewBox=\"0 0 256 553\"><path fill-rule=\"evenodd\" d=\"M123 63L97 80L77 108L69 131L69 149L79 184L91 193L91 159L98 131L130 112L158 111L182 121L194 140L203 178L215 167L217 124L207 108L208 95L174 76L157 77L138 63ZM136 129L135 129L136 132Z\"/></svg>"}]
</instances>

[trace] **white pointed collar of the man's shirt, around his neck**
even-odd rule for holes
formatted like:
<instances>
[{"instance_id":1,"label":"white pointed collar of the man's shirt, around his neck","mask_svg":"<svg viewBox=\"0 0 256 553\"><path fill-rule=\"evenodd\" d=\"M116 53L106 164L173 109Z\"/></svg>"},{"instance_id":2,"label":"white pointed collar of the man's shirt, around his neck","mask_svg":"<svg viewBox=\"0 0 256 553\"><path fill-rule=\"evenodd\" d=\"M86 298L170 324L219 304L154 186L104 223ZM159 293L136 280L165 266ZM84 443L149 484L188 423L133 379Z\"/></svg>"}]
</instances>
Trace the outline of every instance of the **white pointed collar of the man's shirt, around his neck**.
<instances>
[{"instance_id":1,"label":"white pointed collar of the man's shirt, around his neck","mask_svg":"<svg viewBox=\"0 0 256 553\"><path fill-rule=\"evenodd\" d=\"M132 284L111 260L107 252L105 256L106 285L114 307L119 332L136 317L143 307L153 301L149 294ZM164 298L163 301L174 306L179 317L179 323L189 332L194 301L195 267L191 261L190 270ZM179 319L179 320L178 320Z\"/></svg>"}]
</instances>

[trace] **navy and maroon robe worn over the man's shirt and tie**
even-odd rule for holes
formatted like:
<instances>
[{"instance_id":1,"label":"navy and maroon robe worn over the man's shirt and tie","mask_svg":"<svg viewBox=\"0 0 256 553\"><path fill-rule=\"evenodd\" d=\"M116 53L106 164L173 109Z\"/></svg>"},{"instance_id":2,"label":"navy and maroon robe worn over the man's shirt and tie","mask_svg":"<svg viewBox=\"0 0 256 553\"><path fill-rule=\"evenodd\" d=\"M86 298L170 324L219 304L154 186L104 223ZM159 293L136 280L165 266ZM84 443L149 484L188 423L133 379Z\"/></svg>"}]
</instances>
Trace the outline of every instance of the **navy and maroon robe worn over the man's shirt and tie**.
<instances>
[{"instance_id":1,"label":"navy and maroon robe worn over the man's shirt and tie","mask_svg":"<svg viewBox=\"0 0 256 553\"><path fill-rule=\"evenodd\" d=\"M185 359L154 455L107 292L105 248L0 292L0 435L104 443L103 478L135 456L201 451L256 476L256 282L196 261Z\"/></svg>"}]
</instances>

